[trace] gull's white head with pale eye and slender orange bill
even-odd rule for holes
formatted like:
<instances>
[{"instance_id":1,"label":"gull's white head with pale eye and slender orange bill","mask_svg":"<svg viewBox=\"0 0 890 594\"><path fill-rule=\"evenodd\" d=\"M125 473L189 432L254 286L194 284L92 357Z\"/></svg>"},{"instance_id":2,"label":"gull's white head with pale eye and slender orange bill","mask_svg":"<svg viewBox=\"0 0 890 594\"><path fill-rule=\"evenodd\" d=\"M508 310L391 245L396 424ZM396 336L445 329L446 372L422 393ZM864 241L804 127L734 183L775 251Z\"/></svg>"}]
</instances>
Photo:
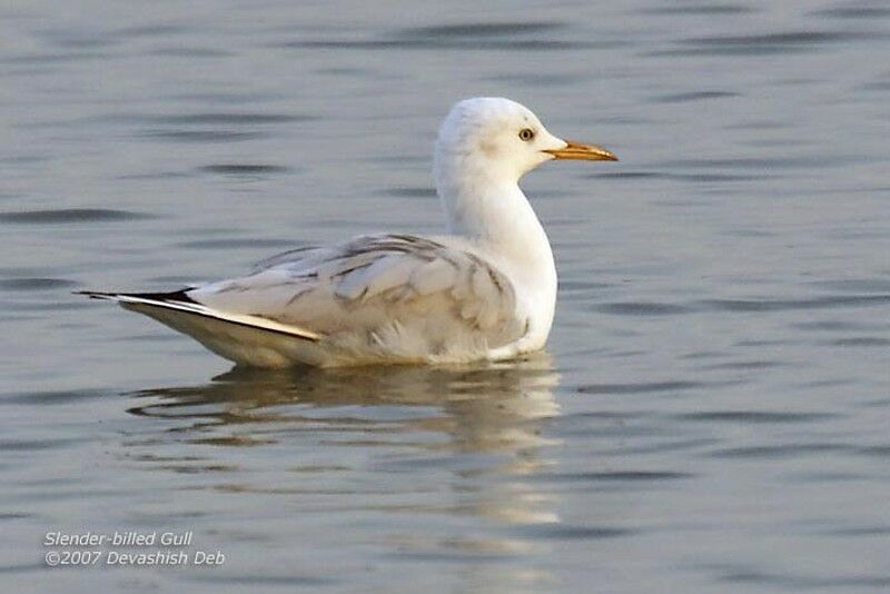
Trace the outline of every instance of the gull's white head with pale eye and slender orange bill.
<instances>
[{"instance_id":1,"label":"gull's white head with pale eye and slender orange bill","mask_svg":"<svg viewBox=\"0 0 890 594\"><path fill-rule=\"evenodd\" d=\"M596 145L553 136L528 108L500 97L477 97L456 103L436 139L435 169L439 184L456 176L479 175L516 182L552 159L617 160Z\"/></svg>"}]
</instances>

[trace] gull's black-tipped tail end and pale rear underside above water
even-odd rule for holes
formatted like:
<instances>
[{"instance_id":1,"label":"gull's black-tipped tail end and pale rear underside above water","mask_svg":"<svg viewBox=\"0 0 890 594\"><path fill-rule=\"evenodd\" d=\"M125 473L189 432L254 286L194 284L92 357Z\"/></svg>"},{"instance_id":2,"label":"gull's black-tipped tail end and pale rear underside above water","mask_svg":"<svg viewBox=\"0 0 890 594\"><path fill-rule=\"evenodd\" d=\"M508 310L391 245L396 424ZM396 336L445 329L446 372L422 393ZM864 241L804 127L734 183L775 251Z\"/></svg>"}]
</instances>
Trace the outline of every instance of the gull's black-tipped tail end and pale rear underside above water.
<instances>
[{"instance_id":1,"label":"gull's black-tipped tail end and pale rear underside above water","mask_svg":"<svg viewBox=\"0 0 890 594\"><path fill-rule=\"evenodd\" d=\"M92 299L117 301L191 336L217 355L259 367L295 364L329 365L322 335L279 321L209 308L188 296L190 288L170 293L77 291Z\"/></svg>"}]
</instances>

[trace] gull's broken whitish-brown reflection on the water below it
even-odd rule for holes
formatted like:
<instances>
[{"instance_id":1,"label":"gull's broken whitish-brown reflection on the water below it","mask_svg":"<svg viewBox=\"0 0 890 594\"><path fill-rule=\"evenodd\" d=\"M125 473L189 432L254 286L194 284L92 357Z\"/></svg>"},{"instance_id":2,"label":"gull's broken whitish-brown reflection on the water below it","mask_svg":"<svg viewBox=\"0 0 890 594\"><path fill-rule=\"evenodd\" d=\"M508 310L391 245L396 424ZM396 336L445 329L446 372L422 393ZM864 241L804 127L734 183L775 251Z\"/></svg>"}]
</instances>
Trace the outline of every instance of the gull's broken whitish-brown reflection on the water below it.
<instances>
[{"instance_id":1,"label":"gull's broken whitish-brown reflection on the water below it","mask_svg":"<svg viewBox=\"0 0 890 594\"><path fill-rule=\"evenodd\" d=\"M148 402L130 413L174 423L165 424L162 437L155 428L148 440L130 445L139 449L166 444L164 449L168 449L175 444L177 456L188 455L189 447L197 449L195 444L276 447L270 456L281 473L327 471L322 483L333 491L344 483L355 488L344 496L360 495L355 485L364 485L372 496L380 493L377 488L394 493L404 487L406 494L415 495L422 488L421 501L409 497L412 503L400 509L508 524L548 523L557 518L547 509L547 498L525 478L547 465L543 446L553 439L542 433L546 419L558 414L553 395L557 383L545 355L472 368L273 373L235 368L205 385L134 394ZM290 449L285 459L283 446ZM357 449L362 455L356 455ZM206 447L201 452L206 455ZM250 461L256 461L253 454ZM235 455L215 455L214 462L217 467L244 469ZM349 476L332 483L332 471ZM451 477L445 482L443 471ZM431 476L438 483L425 484ZM299 478L300 486L295 488L226 485L231 492L305 493L305 474Z\"/></svg>"}]
</instances>

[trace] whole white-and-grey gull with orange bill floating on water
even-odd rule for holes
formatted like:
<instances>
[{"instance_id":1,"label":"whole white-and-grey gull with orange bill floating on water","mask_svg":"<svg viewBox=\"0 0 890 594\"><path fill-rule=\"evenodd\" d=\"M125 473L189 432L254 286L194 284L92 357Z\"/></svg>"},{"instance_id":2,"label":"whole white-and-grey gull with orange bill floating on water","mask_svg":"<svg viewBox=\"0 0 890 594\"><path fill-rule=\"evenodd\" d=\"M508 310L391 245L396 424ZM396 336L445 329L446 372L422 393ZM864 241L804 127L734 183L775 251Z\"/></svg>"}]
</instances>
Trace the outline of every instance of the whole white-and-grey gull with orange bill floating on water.
<instances>
[{"instance_id":1,"label":"whole white-and-grey gull with orange bill floating on water","mask_svg":"<svg viewBox=\"0 0 890 594\"><path fill-rule=\"evenodd\" d=\"M550 240L520 179L553 159L614 161L505 98L456 103L434 149L447 235L365 235L274 256L170 293L83 291L155 318L236 365L466 364L544 347Z\"/></svg>"}]
</instances>

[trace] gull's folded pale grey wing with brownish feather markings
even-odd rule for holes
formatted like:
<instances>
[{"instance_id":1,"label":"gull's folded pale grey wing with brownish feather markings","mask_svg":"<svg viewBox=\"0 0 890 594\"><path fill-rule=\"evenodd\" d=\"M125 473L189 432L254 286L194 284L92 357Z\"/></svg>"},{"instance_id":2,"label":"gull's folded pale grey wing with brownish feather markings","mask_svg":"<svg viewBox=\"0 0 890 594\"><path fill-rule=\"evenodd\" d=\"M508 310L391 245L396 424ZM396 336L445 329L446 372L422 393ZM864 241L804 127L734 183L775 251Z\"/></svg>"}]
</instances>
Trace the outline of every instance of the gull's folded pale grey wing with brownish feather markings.
<instances>
[{"instance_id":1,"label":"gull's folded pale grey wing with brownish feather markings","mask_svg":"<svg viewBox=\"0 0 890 594\"><path fill-rule=\"evenodd\" d=\"M250 276L189 291L200 304L323 336L379 340L396 331L417 349L520 338L512 283L475 254L432 239L383 235L267 260ZM466 345L464 345L466 346Z\"/></svg>"}]
</instances>

